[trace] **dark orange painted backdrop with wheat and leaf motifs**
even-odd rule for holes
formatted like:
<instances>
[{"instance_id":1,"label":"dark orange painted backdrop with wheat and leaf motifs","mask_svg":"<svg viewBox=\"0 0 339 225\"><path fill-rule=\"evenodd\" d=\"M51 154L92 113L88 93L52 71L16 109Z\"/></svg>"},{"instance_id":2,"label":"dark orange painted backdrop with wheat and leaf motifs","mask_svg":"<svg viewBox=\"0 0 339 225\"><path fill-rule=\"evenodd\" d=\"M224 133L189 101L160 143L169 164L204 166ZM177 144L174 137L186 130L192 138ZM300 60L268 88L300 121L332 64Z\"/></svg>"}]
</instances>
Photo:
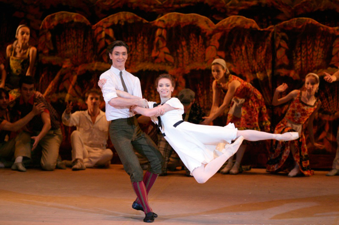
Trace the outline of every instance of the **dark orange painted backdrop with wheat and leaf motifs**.
<instances>
[{"instance_id":1,"label":"dark orange painted backdrop with wheat and leaf motifs","mask_svg":"<svg viewBox=\"0 0 339 225\"><path fill-rule=\"evenodd\" d=\"M85 107L83 94L109 68L108 43L131 47L126 68L141 80L144 97L159 100L154 80L162 72L177 79L176 91L191 88L209 111L210 67L224 58L233 74L263 94L274 126L288 104L273 107L277 85L301 88L305 75L334 73L339 66L339 3L330 0L0 0L0 61L18 24L31 27L38 48L38 89L61 114L65 101ZM321 77L322 108L314 132L324 149L309 146L312 167L331 167L337 149L339 82ZM225 125L227 111L216 121ZM64 152L69 133L62 127ZM272 130L274 127L272 127ZM249 147L245 162L265 166L265 149Z\"/></svg>"}]
</instances>

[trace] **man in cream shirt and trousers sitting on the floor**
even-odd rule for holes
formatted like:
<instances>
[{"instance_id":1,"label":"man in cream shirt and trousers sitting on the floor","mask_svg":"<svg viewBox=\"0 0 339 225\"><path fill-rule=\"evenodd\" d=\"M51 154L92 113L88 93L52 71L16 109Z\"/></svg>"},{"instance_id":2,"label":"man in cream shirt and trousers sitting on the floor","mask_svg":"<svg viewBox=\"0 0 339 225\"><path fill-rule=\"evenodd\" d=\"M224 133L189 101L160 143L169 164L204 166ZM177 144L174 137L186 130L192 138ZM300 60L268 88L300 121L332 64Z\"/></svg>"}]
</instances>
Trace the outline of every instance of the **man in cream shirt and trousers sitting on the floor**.
<instances>
[{"instance_id":1,"label":"man in cream shirt and trousers sitting on the floor","mask_svg":"<svg viewBox=\"0 0 339 225\"><path fill-rule=\"evenodd\" d=\"M108 167L113 157L111 149L106 148L109 121L105 112L101 111L101 91L88 90L85 94L88 109L71 114L72 102L62 114L62 122L67 126L76 126L71 134L72 161L63 161L72 170L91 168L93 166Z\"/></svg>"}]
</instances>

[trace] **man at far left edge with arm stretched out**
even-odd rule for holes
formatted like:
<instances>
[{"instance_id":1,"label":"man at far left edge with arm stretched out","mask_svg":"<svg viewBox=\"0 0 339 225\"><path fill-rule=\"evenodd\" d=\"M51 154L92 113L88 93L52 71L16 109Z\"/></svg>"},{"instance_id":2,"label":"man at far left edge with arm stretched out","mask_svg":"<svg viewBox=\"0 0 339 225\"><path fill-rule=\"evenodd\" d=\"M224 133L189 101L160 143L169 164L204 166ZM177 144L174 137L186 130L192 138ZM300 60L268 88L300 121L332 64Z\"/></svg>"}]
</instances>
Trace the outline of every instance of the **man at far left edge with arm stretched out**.
<instances>
[{"instance_id":1,"label":"man at far left edge with arm stretched out","mask_svg":"<svg viewBox=\"0 0 339 225\"><path fill-rule=\"evenodd\" d=\"M15 162L12 165L15 170L26 171L25 167L22 164L22 156L17 156L16 154L21 151L19 149L19 143L21 140L21 133L15 138L10 139L11 131L16 132L26 125L35 115L40 114L44 111L45 106L41 102L39 104L34 104L32 110L17 121L13 121L12 114L8 110L8 101L9 94L8 91L4 88L0 88L0 157L5 159L4 162L0 161L0 168L5 167L5 165L11 165L11 159L15 156ZM16 154L14 154L15 147L17 149ZM30 151L30 149L23 149L24 151Z\"/></svg>"}]
</instances>

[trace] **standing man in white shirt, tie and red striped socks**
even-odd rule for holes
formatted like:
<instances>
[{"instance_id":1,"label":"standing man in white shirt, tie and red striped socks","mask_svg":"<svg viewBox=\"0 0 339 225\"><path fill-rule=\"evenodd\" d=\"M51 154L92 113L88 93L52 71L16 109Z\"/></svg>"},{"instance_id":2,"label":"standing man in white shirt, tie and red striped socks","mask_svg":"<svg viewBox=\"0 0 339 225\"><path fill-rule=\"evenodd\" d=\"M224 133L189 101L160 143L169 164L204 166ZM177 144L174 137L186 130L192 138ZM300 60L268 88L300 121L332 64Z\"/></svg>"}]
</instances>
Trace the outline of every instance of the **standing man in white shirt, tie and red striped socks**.
<instances>
[{"instance_id":1,"label":"standing man in white shirt, tie and red striped socks","mask_svg":"<svg viewBox=\"0 0 339 225\"><path fill-rule=\"evenodd\" d=\"M163 157L156 144L139 127L135 114L129 108L134 105L146 107L145 99L127 99L118 97L117 90L124 90L132 95L142 97L140 80L125 70L128 56L128 45L116 40L108 45L106 53L112 66L100 75L107 82L102 87L106 102L106 118L111 121L109 134L125 171L130 175L137 199L132 207L145 212L144 222L153 222L157 214L153 213L148 204L147 194L161 173ZM150 162L148 171L143 170L133 147Z\"/></svg>"}]
</instances>

